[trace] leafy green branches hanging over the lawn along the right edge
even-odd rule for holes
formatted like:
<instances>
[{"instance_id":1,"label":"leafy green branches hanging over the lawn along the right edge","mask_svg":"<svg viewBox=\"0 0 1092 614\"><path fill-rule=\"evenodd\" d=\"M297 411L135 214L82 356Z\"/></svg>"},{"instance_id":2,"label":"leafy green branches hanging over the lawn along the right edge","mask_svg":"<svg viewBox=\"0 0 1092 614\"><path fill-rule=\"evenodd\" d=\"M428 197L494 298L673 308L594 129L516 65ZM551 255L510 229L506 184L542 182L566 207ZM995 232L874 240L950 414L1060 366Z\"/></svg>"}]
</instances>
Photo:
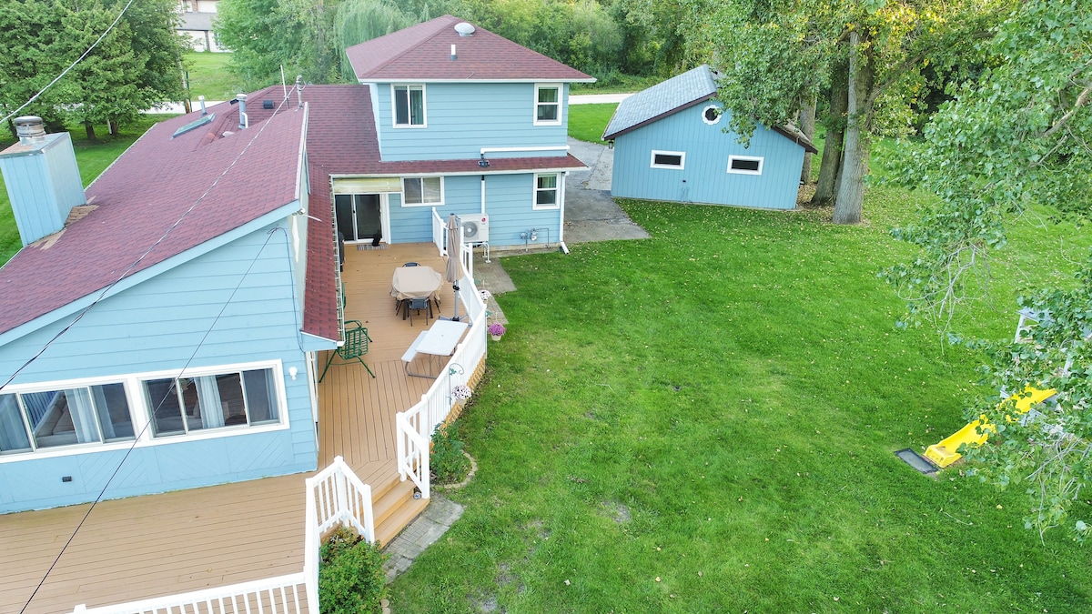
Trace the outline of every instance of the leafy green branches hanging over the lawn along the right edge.
<instances>
[{"instance_id":1,"label":"leafy green branches hanging over the lawn along the right edge","mask_svg":"<svg viewBox=\"0 0 1092 614\"><path fill-rule=\"evenodd\" d=\"M968 308L987 278L990 253L1006 245L1005 225L1031 208L1055 220L1092 216L1092 7L1076 0L1028 0L996 29L981 80L957 91L894 174L939 197L895 236L919 248L888 271L911 299L911 317L940 330ZM970 450L975 473L1031 496L1028 526L1057 526L1092 483L1092 260L1075 287L1030 292L1020 306L1037 314L1028 343L977 342L998 390L1053 388L1057 402L1010 421L1000 397L969 415L998 425L989 444ZM1087 497L1083 497L1087 498ZM1072 526L1089 534L1088 519Z\"/></svg>"}]
</instances>

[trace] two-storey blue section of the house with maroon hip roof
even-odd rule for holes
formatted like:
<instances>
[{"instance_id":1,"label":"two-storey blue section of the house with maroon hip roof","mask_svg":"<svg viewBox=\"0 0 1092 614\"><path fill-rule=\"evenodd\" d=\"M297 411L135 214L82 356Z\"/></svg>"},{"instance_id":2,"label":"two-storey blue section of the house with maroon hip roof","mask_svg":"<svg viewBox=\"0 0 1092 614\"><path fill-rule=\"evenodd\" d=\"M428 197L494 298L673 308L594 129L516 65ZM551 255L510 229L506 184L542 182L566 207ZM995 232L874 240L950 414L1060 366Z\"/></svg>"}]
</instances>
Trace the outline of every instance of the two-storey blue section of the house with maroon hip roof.
<instances>
[{"instance_id":1,"label":"two-storey blue section of the house with maroon hip roof","mask_svg":"<svg viewBox=\"0 0 1092 614\"><path fill-rule=\"evenodd\" d=\"M430 240L432 208L486 214L494 247L565 240L566 176L586 168L566 144L569 84L594 79L451 15L346 55L375 147L334 177L349 243Z\"/></svg>"}]
</instances>

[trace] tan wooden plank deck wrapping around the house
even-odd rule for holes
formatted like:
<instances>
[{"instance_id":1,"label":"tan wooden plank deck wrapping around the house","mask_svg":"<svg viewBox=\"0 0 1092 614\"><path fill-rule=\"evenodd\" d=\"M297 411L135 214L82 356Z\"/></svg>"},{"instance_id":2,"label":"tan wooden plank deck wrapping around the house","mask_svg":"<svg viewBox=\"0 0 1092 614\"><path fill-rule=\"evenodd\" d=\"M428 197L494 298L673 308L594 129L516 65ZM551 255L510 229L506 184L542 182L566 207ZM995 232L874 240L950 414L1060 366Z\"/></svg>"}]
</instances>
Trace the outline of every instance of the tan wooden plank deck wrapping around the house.
<instances>
[{"instance_id":1,"label":"tan wooden plank deck wrapping around the house","mask_svg":"<svg viewBox=\"0 0 1092 614\"><path fill-rule=\"evenodd\" d=\"M347 247L345 317L368 327L373 342L365 361L377 377L359 363L335 361L319 386L319 468L344 457L377 499L412 492L408 482L397 480L394 415L417 403L432 383L407 377L401 361L426 328L424 319L411 328L394 315L390 280L406 261L443 271L430 244ZM450 315L451 286L441 288L441 307ZM324 364L325 355L320 369ZM307 476L106 500L86 521L90 505L0 516L0 613L22 611L73 532L25 612L71 612L79 603L106 605L300 571ZM384 543L425 504L415 503L408 510L377 509L392 513L382 528L377 520Z\"/></svg>"}]
</instances>

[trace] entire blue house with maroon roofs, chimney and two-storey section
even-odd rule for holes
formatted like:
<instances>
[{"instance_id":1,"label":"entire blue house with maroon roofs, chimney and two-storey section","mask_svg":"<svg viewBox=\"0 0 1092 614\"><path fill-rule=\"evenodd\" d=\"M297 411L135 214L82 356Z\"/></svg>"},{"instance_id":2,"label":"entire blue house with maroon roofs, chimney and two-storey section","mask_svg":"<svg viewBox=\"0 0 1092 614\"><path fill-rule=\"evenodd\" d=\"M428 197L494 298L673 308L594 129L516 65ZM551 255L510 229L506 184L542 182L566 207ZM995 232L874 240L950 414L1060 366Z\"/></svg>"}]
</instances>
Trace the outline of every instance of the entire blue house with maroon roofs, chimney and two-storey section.
<instances>
[{"instance_id":1,"label":"entire blue house with maroon roofs, chimney and two-storey section","mask_svg":"<svg viewBox=\"0 0 1092 614\"><path fill-rule=\"evenodd\" d=\"M563 241L568 88L591 78L450 15L348 58L359 84L163 121L86 190L68 134L21 120L0 513L316 470L339 234L435 244L453 212L468 241Z\"/></svg>"}]
</instances>

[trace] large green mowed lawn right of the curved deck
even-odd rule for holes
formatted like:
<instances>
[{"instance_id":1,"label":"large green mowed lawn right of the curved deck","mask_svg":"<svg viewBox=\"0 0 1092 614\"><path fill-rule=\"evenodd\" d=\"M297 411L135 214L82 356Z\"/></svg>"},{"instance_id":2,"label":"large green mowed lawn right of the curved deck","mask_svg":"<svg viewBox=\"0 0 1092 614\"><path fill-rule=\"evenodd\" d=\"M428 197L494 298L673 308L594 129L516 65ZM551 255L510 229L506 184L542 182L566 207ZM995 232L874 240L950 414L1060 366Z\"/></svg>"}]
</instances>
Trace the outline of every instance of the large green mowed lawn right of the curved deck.
<instances>
[{"instance_id":1,"label":"large green mowed lawn right of the curved deck","mask_svg":"<svg viewBox=\"0 0 1092 614\"><path fill-rule=\"evenodd\" d=\"M854 227L626 201L652 238L505 258L509 332L461 418L478 472L392 609L1092 611L1089 551L1025 530L1022 488L892 453L983 392L978 356L898 328L877 278L910 255L887 231L914 198L874 187ZM1016 293L1087 253L1071 227L1038 234L963 330L1010 335Z\"/></svg>"}]
</instances>

